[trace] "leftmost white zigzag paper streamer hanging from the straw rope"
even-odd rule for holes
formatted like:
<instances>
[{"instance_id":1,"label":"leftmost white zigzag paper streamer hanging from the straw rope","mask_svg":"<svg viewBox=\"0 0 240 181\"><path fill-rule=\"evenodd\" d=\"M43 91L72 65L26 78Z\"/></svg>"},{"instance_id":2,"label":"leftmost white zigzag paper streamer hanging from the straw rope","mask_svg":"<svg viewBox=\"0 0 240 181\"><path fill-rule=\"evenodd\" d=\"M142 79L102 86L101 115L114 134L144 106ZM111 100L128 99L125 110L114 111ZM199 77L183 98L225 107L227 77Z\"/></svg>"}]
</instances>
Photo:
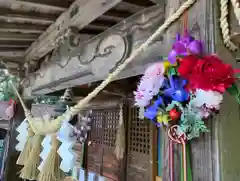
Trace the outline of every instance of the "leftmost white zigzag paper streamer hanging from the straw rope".
<instances>
[{"instance_id":1,"label":"leftmost white zigzag paper streamer hanging from the straw rope","mask_svg":"<svg viewBox=\"0 0 240 181\"><path fill-rule=\"evenodd\" d=\"M24 121L17 127L16 131L19 133L16 139L18 140L18 144L16 145L17 151L23 151L25 143L28 137L28 121L25 118Z\"/></svg>"}]
</instances>

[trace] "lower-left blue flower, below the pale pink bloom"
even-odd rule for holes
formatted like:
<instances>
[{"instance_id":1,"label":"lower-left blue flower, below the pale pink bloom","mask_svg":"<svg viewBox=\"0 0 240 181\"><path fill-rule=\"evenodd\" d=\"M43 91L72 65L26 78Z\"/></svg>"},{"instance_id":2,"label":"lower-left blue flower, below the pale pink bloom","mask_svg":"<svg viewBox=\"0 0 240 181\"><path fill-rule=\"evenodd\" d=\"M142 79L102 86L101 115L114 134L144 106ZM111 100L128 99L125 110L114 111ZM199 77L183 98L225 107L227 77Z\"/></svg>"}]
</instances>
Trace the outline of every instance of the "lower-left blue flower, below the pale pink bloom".
<instances>
[{"instance_id":1,"label":"lower-left blue flower, below the pale pink bloom","mask_svg":"<svg viewBox=\"0 0 240 181\"><path fill-rule=\"evenodd\" d=\"M158 96L157 100L154 102L153 105L149 106L145 112L144 112L144 117L154 120L157 116L157 112L160 106L164 105L163 99L161 96Z\"/></svg>"}]
</instances>

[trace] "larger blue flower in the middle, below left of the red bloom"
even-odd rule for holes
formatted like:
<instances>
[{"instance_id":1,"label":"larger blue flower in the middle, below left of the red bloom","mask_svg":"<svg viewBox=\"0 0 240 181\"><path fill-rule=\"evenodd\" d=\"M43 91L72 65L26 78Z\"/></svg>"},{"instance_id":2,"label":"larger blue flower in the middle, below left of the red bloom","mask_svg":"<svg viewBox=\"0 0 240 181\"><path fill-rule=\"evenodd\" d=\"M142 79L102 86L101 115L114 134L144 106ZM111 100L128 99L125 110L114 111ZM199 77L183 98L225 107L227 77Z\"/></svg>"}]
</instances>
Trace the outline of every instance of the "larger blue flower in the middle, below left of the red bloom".
<instances>
[{"instance_id":1,"label":"larger blue flower in the middle, below left of the red bloom","mask_svg":"<svg viewBox=\"0 0 240 181\"><path fill-rule=\"evenodd\" d=\"M170 85L164 90L163 94L174 101L184 102L189 98L189 92L184 89L187 81L177 76L170 76Z\"/></svg>"}]
</instances>

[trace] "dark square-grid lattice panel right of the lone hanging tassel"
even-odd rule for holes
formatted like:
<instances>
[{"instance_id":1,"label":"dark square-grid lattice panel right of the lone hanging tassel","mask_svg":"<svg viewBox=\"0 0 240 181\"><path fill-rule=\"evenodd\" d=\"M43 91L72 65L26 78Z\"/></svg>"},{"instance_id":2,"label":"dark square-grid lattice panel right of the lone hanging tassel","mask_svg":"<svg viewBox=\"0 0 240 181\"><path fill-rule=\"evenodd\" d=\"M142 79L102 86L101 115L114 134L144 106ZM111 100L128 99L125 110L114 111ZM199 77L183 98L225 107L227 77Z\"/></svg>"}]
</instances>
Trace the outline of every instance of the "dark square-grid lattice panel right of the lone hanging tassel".
<instances>
[{"instance_id":1,"label":"dark square-grid lattice panel right of the lone hanging tassel","mask_svg":"<svg viewBox=\"0 0 240 181\"><path fill-rule=\"evenodd\" d=\"M150 127L147 120L138 118L138 108L130 109L129 121L129 152L149 154L150 151Z\"/></svg>"}]
</instances>

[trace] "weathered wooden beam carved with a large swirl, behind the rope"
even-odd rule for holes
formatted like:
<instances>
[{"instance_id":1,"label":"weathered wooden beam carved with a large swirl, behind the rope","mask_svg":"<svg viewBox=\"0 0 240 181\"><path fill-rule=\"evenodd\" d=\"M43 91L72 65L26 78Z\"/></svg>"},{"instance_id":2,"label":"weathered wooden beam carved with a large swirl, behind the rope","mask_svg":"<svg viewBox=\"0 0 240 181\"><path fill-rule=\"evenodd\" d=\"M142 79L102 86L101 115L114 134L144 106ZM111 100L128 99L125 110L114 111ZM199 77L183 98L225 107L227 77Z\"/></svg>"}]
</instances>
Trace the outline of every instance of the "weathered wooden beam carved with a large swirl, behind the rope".
<instances>
[{"instance_id":1,"label":"weathered wooden beam carved with a large swirl, behind the rope","mask_svg":"<svg viewBox=\"0 0 240 181\"><path fill-rule=\"evenodd\" d=\"M50 93L68 86L104 79L116 65L139 47L163 20L164 8L156 5L144 9L71 50L66 42L52 55L49 63L43 63L39 71L25 79L25 95L30 95L32 91L36 94ZM116 79L142 74L149 63L159 60L160 55L167 55L166 44L162 39L159 37Z\"/></svg>"}]
</instances>

